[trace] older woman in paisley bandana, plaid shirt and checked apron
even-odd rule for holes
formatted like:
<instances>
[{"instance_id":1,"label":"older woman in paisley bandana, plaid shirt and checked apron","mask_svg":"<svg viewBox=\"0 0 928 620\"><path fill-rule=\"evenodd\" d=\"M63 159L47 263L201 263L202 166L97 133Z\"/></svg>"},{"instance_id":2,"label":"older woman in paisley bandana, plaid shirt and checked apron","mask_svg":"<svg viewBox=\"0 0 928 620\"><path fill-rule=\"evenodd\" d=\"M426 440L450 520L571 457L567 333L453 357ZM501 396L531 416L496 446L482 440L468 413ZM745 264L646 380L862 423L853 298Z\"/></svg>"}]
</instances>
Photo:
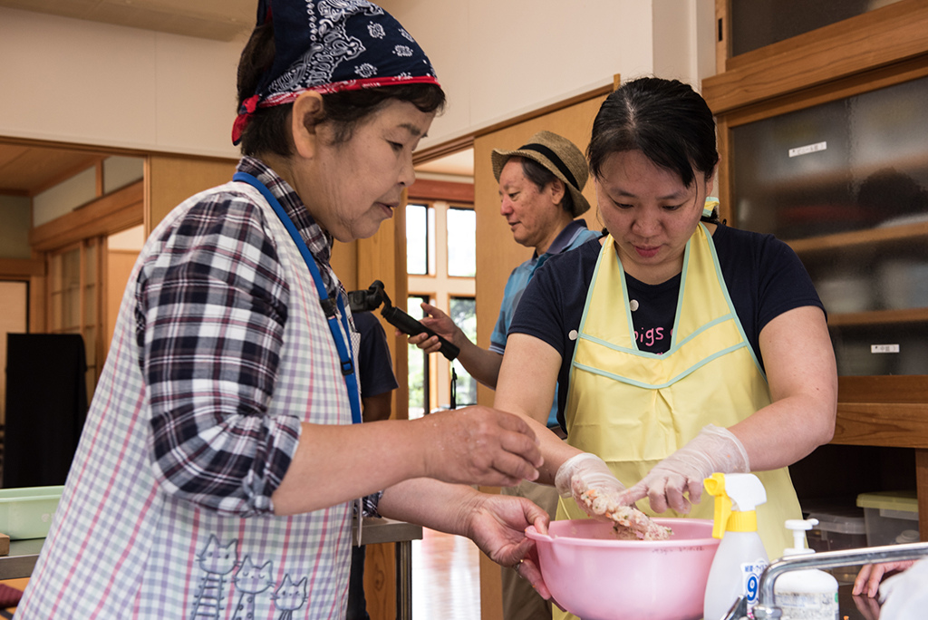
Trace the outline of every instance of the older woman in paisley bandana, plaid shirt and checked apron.
<instances>
[{"instance_id":1,"label":"older woman in paisley bandana, plaid shirt and checked apron","mask_svg":"<svg viewBox=\"0 0 928 620\"><path fill-rule=\"evenodd\" d=\"M547 593L521 562L547 515L466 485L537 477L523 420L359 423L329 254L414 181L445 98L428 58L364 0L263 0L238 94L238 172L139 256L17 617L341 618L359 503L470 536Z\"/></svg>"}]
</instances>

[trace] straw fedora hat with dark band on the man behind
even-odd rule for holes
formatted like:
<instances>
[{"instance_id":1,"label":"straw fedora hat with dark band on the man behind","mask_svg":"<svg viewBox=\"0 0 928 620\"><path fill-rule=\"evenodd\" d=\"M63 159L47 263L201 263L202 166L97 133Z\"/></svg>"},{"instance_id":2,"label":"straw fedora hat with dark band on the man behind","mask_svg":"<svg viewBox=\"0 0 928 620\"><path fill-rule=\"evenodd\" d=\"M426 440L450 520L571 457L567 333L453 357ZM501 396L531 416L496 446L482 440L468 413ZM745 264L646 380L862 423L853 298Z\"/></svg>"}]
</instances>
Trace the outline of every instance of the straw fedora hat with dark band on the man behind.
<instances>
[{"instance_id":1,"label":"straw fedora hat with dark band on the man behind","mask_svg":"<svg viewBox=\"0 0 928 620\"><path fill-rule=\"evenodd\" d=\"M561 179L564 187L574 200L574 210L571 215L576 217L589 210L589 202L580 193L586 185L589 176L589 167L586 158L573 142L565 137L552 134L549 131L540 131L529 138L528 144L515 150L493 149L493 174L499 180L503 166L510 157L524 157L537 161L548 168L555 176Z\"/></svg>"}]
</instances>

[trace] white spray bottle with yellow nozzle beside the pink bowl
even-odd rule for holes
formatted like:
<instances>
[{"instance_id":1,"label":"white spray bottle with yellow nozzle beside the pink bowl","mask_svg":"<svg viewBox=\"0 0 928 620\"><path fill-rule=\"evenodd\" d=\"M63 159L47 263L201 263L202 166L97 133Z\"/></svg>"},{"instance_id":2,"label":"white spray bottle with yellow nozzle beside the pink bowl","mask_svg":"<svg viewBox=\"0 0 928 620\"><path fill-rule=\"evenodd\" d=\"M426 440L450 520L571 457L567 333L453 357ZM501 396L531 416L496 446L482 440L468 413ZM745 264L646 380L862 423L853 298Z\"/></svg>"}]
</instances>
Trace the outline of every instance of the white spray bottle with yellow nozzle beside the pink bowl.
<instances>
[{"instance_id":1,"label":"white spray bottle with yellow nozzle beside the pink bowl","mask_svg":"<svg viewBox=\"0 0 928 620\"><path fill-rule=\"evenodd\" d=\"M720 620L741 597L749 611L757 603L760 575L769 562L755 509L767 501L767 491L753 473L714 473L705 488L715 496L712 536L722 542L709 569L702 613L705 620Z\"/></svg>"}]
</instances>

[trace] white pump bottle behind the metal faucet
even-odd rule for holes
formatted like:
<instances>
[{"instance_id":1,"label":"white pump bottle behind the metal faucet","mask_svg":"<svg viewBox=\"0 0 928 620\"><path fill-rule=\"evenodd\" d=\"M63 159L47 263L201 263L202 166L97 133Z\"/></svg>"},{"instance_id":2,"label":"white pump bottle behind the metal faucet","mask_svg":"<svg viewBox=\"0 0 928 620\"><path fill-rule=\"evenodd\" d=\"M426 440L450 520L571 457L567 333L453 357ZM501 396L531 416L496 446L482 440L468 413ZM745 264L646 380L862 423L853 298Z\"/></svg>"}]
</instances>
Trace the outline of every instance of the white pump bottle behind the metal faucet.
<instances>
[{"instance_id":1,"label":"white pump bottle behind the metal faucet","mask_svg":"<svg viewBox=\"0 0 928 620\"><path fill-rule=\"evenodd\" d=\"M785 549L783 557L815 553L815 549L806 549L806 531L816 525L818 519L787 520L793 548ZM773 593L782 620L838 620L838 580L824 571L787 571L777 578Z\"/></svg>"}]
</instances>

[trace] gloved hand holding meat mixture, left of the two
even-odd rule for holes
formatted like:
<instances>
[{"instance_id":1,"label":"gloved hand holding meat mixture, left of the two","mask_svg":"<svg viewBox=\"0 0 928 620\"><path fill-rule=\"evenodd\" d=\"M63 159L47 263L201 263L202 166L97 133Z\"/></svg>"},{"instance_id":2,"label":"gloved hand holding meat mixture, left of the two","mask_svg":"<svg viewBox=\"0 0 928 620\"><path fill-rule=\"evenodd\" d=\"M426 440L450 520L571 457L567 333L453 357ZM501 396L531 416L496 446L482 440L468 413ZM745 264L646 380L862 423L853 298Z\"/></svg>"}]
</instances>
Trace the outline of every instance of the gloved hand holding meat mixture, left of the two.
<instances>
[{"instance_id":1,"label":"gloved hand holding meat mixture, left of the two","mask_svg":"<svg viewBox=\"0 0 928 620\"><path fill-rule=\"evenodd\" d=\"M554 476L554 486L561 497L574 497L574 501L591 517L603 518L608 510L625 505L619 501L625 486L612 475L606 461L595 454L583 452L565 460ZM587 501L583 496L592 491Z\"/></svg>"}]
</instances>

